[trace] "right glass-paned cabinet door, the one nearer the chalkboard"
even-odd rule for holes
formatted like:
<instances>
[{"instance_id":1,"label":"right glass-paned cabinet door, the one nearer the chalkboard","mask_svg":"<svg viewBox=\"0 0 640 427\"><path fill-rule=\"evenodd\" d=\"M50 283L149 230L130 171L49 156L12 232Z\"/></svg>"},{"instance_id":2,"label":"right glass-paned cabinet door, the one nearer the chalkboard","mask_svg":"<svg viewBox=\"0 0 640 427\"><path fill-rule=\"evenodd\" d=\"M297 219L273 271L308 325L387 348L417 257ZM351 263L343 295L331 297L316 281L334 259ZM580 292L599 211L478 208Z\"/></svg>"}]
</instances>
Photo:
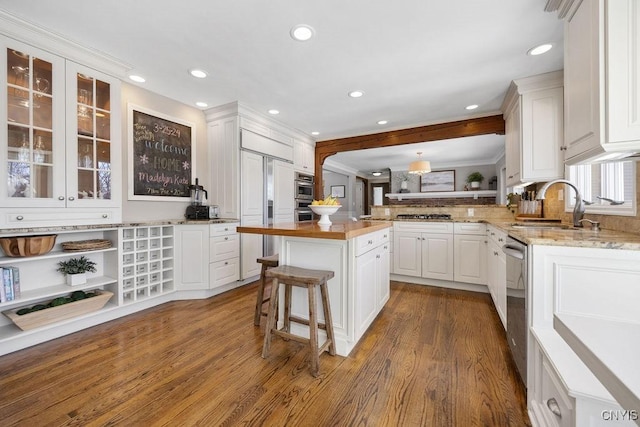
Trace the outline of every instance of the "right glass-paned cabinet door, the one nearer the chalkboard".
<instances>
[{"instance_id":1,"label":"right glass-paned cabinet door, the one nearer the chalkboard","mask_svg":"<svg viewBox=\"0 0 640 427\"><path fill-rule=\"evenodd\" d=\"M108 76L67 64L67 192L77 205L109 205L113 195L112 106L117 87ZM73 170L72 170L73 165Z\"/></svg>"}]
</instances>

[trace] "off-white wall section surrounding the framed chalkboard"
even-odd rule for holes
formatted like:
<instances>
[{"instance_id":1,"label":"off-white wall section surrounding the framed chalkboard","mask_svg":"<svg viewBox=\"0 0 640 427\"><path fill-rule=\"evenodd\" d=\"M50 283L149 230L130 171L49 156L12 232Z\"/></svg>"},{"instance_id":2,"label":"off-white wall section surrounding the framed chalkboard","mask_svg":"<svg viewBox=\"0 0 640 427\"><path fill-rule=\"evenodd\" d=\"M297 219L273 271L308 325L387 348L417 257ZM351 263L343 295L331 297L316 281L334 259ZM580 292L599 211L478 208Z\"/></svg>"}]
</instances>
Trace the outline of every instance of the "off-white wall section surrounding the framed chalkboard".
<instances>
[{"instance_id":1,"label":"off-white wall section surrounding the framed chalkboard","mask_svg":"<svg viewBox=\"0 0 640 427\"><path fill-rule=\"evenodd\" d=\"M184 202L167 201L166 199L163 200L162 197L158 197L157 201L134 201L128 199L128 184L131 179L129 177L129 144L131 144L131 135L128 134L128 103L195 124L196 169L194 177L198 177L200 183L209 182L210 174L204 113L195 107L165 98L138 86L126 82L122 84L122 220L123 222L131 222L184 219L185 209L189 205L189 198L185 198Z\"/></svg>"}]
</instances>

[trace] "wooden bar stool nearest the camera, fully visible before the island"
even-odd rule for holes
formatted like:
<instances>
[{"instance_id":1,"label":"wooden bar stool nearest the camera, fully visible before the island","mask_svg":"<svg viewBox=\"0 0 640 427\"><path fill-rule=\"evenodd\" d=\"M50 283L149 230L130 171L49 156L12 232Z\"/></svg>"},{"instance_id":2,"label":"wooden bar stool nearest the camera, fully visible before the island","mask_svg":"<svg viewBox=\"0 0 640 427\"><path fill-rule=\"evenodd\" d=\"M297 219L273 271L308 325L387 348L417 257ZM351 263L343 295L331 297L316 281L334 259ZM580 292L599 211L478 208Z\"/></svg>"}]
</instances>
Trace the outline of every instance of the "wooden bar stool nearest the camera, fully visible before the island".
<instances>
[{"instance_id":1,"label":"wooden bar stool nearest the camera, fully visible before the island","mask_svg":"<svg viewBox=\"0 0 640 427\"><path fill-rule=\"evenodd\" d=\"M305 344L309 344L311 349L311 374L317 377L320 371L320 354L325 350L332 356L336 354L336 343L333 336L333 321L331 319L331 306L329 305L329 292L327 281L334 276L333 271L310 270L306 268L281 265L271 268L265 273L267 278L271 278L271 298L269 301L269 313L267 314L267 326L264 334L264 345L262 346L262 357L267 358L271 348L271 334L279 335L284 339L292 339ZM285 285L284 291L284 326L278 329L278 310L276 301L278 299L278 287L282 283ZM302 319L291 315L291 289L292 286L307 289L309 298L309 319ZM320 286L322 299L322 309L324 311L325 323L318 322L316 315L316 286ZM294 335L290 332L291 322L309 326L309 338ZM318 329L327 331L327 340L318 347Z\"/></svg>"}]
</instances>

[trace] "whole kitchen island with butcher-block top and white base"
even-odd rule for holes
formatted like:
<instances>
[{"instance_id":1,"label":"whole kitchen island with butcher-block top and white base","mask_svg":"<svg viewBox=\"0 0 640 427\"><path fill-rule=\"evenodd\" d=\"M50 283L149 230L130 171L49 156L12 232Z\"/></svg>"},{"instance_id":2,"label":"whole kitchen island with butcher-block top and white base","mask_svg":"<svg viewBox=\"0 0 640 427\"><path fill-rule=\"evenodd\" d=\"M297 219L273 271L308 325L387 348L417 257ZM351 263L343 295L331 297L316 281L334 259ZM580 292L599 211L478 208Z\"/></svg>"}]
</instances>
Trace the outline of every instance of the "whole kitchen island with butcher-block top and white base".
<instances>
[{"instance_id":1,"label":"whole kitchen island with butcher-block top and white base","mask_svg":"<svg viewBox=\"0 0 640 427\"><path fill-rule=\"evenodd\" d=\"M380 221L334 221L321 228L317 221L305 221L241 226L238 232L279 236L275 247L279 248L280 265L335 273L328 287L336 353L347 356L389 300L392 225ZM283 294L281 289L281 301ZM281 322L283 304L279 307ZM294 316L308 317L305 290L293 289L291 312ZM317 312L322 313L321 307ZM291 329L295 334L309 336L306 326L292 324ZM325 338L321 335L320 342Z\"/></svg>"}]
</instances>

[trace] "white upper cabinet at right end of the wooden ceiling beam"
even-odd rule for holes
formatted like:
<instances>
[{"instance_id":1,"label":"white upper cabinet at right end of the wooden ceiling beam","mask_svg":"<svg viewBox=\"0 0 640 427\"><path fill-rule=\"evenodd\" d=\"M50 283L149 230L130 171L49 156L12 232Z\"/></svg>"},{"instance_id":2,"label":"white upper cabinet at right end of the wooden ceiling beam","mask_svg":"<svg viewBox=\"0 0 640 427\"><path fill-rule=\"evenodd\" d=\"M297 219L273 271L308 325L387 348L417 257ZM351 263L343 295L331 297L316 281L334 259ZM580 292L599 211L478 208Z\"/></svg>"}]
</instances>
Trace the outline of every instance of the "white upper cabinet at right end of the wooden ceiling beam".
<instances>
[{"instance_id":1,"label":"white upper cabinet at right end of the wooden ceiling beam","mask_svg":"<svg viewBox=\"0 0 640 427\"><path fill-rule=\"evenodd\" d=\"M562 72L514 80L503 102L507 185L564 176Z\"/></svg>"}]
</instances>

